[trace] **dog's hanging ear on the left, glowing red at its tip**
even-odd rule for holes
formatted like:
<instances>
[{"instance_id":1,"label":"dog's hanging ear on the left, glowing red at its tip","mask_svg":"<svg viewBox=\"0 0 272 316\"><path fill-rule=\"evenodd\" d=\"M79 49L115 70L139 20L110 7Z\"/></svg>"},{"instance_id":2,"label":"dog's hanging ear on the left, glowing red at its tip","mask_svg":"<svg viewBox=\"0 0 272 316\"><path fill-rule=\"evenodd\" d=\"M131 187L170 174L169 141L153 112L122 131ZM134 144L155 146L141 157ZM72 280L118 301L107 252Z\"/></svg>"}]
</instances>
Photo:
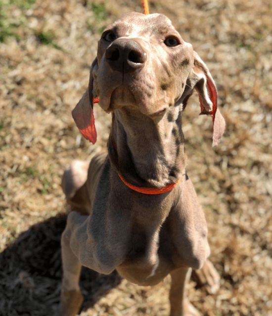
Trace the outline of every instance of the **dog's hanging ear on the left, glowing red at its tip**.
<instances>
[{"instance_id":1,"label":"dog's hanging ear on the left, glowing red at its tip","mask_svg":"<svg viewBox=\"0 0 272 316\"><path fill-rule=\"evenodd\" d=\"M94 59L91 64L90 81L88 90L84 93L83 97L72 111L72 117L74 118L82 135L90 140L92 144L96 142L96 129L94 126L93 118L93 103L97 103L99 98L93 98L92 85L93 85L93 68L97 65L97 58Z\"/></svg>"}]
</instances>

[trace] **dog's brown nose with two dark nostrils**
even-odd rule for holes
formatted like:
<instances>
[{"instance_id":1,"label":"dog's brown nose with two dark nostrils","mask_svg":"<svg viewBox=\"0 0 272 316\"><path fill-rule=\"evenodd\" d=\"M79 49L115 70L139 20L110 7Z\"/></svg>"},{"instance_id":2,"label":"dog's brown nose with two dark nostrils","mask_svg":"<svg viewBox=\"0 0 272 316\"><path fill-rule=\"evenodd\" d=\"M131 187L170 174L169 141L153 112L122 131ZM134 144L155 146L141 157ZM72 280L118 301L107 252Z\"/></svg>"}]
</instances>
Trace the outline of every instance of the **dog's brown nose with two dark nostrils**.
<instances>
[{"instance_id":1,"label":"dog's brown nose with two dark nostrils","mask_svg":"<svg viewBox=\"0 0 272 316\"><path fill-rule=\"evenodd\" d=\"M135 40L117 39L108 47L105 57L113 70L130 73L144 66L146 52Z\"/></svg>"}]
</instances>

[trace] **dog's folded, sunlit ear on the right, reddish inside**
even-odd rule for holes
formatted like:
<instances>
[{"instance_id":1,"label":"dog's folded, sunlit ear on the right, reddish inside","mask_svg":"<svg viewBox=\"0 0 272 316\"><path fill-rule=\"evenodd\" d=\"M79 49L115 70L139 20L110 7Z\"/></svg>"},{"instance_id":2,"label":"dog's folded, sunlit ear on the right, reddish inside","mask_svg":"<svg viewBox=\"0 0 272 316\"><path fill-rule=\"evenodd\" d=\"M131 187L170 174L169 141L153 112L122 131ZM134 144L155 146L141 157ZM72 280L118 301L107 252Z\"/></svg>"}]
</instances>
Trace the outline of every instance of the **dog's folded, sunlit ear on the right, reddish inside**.
<instances>
[{"instance_id":1,"label":"dog's folded, sunlit ear on the right, reddish inside","mask_svg":"<svg viewBox=\"0 0 272 316\"><path fill-rule=\"evenodd\" d=\"M204 62L194 51L192 68L195 89L199 95L201 113L213 116L213 146L218 145L224 134L226 122L217 108L217 91L214 80Z\"/></svg>"}]
</instances>

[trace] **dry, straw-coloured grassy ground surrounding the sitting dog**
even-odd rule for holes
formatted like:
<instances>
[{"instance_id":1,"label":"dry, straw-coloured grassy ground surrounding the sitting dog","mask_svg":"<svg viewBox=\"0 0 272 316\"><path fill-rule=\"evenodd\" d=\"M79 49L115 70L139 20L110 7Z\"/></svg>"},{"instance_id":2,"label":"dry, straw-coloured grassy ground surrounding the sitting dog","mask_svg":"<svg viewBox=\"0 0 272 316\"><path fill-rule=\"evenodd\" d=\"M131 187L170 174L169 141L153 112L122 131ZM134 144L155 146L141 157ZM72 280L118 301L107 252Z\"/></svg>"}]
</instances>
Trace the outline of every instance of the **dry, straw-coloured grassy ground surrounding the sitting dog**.
<instances>
[{"instance_id":1,"label":"dry, straw-coloured grassy ground surrounding the sitting dog","mask_svg":"<svg viewBox=\"0 0 272 316\"><path fill-rule=\"evenodd\" d=\"M193 96L183 117L187 172L206 213L217 294L190 283L205 316L272 316L271 0L154 0L206 62L227 130L212 148L211 118ZM0 3L0 315L49 316L59 300L61 175L105 149L111 118L95 106L98 141L71 117L97 40L132 0ZM63 214L62 214L63 213ZM34 226L33 226L34 225ZM196 287L195 287L196 286ZM139 287L114 273L82 273L82 316L165 316L169 279ZM109 291L110 290L110 291Z\"/></svg>"}]
</instances>

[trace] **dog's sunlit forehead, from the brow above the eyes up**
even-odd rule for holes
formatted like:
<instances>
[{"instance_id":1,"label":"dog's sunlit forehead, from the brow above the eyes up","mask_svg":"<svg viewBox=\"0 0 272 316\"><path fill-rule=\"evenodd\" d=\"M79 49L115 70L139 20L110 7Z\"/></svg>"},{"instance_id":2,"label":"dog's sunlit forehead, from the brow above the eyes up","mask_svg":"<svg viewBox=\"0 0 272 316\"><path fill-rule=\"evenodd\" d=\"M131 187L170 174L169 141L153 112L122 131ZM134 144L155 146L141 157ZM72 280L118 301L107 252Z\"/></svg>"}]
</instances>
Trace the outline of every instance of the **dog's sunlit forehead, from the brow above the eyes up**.
<instances>
[{"instance_id":1,"label":"dog's sunlit forehead, from the brow above the eyes up","mask_svg":"<svg viewBox=\"0 0 272 316\"><path fill-rule=\"evenodd\" d=\"M129 12L122 15L119 20L108 28L114 29L120 36L151 36L168 34L169 32L173 35L179 35L171 20L165 15L158 13L142 14Z\"/></svg>"}]
</instances>

